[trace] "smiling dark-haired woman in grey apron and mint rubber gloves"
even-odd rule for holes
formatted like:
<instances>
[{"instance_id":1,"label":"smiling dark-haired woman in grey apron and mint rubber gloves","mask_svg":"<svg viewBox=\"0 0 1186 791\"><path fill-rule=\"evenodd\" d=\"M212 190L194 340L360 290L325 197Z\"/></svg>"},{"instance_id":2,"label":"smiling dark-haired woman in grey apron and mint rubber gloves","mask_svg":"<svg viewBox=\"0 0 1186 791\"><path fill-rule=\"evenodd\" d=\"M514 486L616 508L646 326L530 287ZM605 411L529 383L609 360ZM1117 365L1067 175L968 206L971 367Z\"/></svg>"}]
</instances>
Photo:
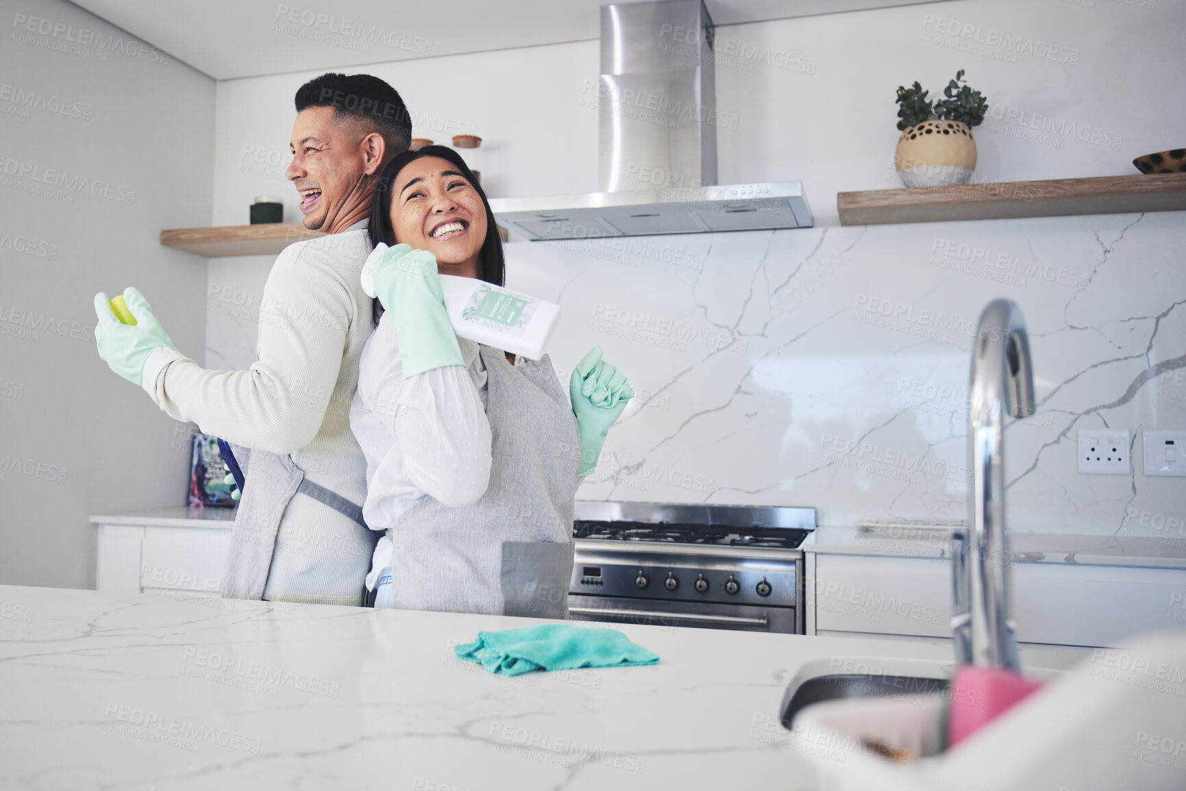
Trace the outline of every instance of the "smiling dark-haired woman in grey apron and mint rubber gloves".
<instances>
[{"instance_id":1,"label":"smiling dark-haired woman in grey apron and mint rubber gloves","mask_svg":"<svg viewBox=\"0 0 1186 791\"><path fill-rule=\"evenodd\" d=\"M376 607L565 618L573 503L633 395L600 349L569 400L547 356L458 339L441 274L503 282L495 217L449 148L397 155L369 227L385 308L359 362L351 428L366 457L366 524L385 531Z\"/></svg>"}]
</instances>

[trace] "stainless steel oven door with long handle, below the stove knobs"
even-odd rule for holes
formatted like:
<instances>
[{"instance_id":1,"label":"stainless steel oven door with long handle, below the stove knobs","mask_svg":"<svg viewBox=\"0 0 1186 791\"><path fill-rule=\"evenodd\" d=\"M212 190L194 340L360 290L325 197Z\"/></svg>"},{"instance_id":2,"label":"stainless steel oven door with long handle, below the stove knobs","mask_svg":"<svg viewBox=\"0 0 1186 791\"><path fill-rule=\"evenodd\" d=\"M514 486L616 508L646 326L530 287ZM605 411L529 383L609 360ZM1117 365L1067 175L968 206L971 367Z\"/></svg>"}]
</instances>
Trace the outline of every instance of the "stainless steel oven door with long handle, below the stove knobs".
<instances>
[{"instance_id":1,"label":"stainless steel oven door with long handle, below the stove knobs","mask_svg":"<svg viewBox=\"0 0 1186 791\"><path fill-rule=\"evenodd\" d=\"M661 601L569 593L568 618L639 624L658 629L694 626L782 634L803 633L797 607L718 605L702 601Z\"/></svg>"}]
</instances>

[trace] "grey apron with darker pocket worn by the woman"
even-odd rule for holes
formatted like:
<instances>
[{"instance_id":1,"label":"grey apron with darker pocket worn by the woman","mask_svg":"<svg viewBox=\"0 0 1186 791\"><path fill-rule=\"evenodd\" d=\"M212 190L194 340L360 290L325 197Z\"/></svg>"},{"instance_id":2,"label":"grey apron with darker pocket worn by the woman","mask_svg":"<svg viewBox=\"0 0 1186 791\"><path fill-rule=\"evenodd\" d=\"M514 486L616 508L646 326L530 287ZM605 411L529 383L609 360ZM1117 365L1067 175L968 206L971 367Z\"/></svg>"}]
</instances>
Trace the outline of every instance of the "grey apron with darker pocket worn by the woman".
<instances>
[{"instance_id":1,"label":"grey apron with darker pocket worn by the woman","mask_svg":"<svg viewBox=\"0 0 1186 791\"><path fill-rule=\"evenodd\" d=\"M398 610L568 617L573 506L580 484L576 417L547 356L486 366L492 464L473 505L421 497L388 530Z\"/></svg>"}]
</instances>

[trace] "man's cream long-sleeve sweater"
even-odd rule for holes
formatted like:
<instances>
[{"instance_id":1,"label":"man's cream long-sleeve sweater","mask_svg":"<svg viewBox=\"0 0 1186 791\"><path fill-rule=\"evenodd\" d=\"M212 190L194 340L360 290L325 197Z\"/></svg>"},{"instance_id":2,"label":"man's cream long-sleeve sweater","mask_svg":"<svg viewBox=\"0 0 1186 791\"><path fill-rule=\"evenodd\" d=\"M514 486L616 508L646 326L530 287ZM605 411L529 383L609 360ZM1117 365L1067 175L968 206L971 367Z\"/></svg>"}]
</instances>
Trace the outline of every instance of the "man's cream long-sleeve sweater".
<instances>
[{"instance_id":1,"label":"man's cream long-sleeve sweater","mask_svg":"<svg viewBox=\"0 0 1186 791\"><path fill-rule=\"evenodd\" d=\"M313 483L361 503L365 463L349 410L375 326L358 279L369 253L366 221L289 244L263 287L259 359L246 371L212 371L162 346L145 364L146 389L171 417L291 453Z\"/></svg>"}]
</instances>

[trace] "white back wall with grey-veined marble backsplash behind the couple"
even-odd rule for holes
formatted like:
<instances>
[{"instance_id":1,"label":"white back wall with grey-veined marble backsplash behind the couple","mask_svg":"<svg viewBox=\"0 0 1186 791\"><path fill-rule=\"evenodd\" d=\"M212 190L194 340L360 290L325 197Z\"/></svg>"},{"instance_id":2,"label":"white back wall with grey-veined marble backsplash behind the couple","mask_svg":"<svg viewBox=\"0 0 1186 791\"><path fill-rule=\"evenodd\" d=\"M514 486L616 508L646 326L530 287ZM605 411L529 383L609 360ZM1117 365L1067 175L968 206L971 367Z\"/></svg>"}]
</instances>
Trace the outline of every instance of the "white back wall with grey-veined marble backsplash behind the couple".
<instances>
[{"instance_id":1,"label":"white back wall with grey-veined marble backsplash behind the couple","mask_svg":"<svg viewBox=\"0 0 1186 791\"><path fill-rule=\"evenodd\" d=\"M1181 212L840 228L835 211L837 191L895 186L894 88L938 95L961 68L1000 108L976 133L977 180L1135 173L1135 155L1181 146L1186 87L1168 77L1186 68L1186 5L1150 5L967 0L719 28L719 50L757 49L716 68L718 108L737 119L719 132L720 181L802 179L817 225L509 245L509 285L562 305L560 372L601 344L643 394L580 496L815 505L823 524L962 518L968 333L1003 295L1028 321L1041 404L1007 432L1010 523L1186 543L1166 529L1186 522L1181 483L1140 461L1079 476L1073 445L1078 427L1186 427ZM1024 51L976 49L1005 36ZM472 125L493 194L595 187L595 43L366 71L415 116ZM216 222L243 222L259 193L292 205L282 153L269 171L244 147L287 149L312 76L219 84ZM208 364L250 364L269 263L211 262ZM867 324L881 304L906 318Z\"/></svg>"}]
</instances>

